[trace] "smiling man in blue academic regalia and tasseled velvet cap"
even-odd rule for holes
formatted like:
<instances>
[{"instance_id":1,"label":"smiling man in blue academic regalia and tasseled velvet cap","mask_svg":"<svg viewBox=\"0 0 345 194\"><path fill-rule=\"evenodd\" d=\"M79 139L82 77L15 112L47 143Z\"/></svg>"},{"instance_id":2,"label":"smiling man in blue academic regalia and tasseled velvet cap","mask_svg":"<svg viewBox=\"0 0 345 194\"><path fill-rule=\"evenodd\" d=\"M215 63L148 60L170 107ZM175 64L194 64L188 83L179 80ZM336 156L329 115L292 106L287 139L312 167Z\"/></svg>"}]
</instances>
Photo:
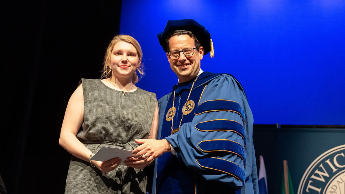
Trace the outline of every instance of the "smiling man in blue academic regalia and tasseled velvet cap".
<instances>
[{"instance_id":1,"label":"smiling man in blue academic regalia and tasseled velvet cap","mask_svg":"<svg viewBox=\"0 0 345 194\"><path fill-rule=\"evenodd\" d=\"M136 140L135 158L155 160L152 193L258 194L253 115L230 74L203 72L210 33L195 20L169 20L158 35L178 84L158 100L157 139Z\"/></svg>"}]
</instances>

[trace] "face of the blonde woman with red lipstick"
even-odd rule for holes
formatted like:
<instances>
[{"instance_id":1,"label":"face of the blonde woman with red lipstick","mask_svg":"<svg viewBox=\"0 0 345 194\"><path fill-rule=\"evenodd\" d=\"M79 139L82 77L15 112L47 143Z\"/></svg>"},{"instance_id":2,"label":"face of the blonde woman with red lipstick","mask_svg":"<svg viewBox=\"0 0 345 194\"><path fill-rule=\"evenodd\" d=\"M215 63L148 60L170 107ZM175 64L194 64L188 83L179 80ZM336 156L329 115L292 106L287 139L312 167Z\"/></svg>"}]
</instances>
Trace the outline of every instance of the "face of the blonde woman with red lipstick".
<instances>
[{"instance_id":1,"label":"face of the blonde woman with red lipstick","mask_svg":"<svg viewBox=\"0 0 345 194\"><path fill-rule=\"evenodd\" d=\"M112 48L110 67L116 78L131 79L140 62L141 58L131 43L120 41Z\"/></svg>"}]
</instances>

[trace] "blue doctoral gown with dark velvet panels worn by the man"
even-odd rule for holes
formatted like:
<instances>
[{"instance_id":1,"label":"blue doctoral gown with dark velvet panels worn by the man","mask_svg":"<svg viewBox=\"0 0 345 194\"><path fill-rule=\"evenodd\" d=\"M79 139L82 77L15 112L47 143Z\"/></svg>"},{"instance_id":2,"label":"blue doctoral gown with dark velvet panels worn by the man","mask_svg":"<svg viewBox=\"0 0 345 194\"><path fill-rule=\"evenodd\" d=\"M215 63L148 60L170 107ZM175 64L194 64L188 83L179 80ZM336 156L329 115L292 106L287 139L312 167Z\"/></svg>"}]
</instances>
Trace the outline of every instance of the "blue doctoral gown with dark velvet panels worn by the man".
<instances>
[{"instance_id":1,"label":"blue doctoral gown with dark velvet panels worn by the man","mask_svg":"<svg viewBox=\"0 0 345 194\"><path fill-rule=\"evenodd\" d=\"M172 128L178 128L194 79L173 87L175 100L173 93L158 100L157 138L168 140L176 155L156 159L152 193L258 193L253 115L236 78L201 73L189 97L195 107L171 135L167 112L174 101Z\"/></svg>"}]
</instances>

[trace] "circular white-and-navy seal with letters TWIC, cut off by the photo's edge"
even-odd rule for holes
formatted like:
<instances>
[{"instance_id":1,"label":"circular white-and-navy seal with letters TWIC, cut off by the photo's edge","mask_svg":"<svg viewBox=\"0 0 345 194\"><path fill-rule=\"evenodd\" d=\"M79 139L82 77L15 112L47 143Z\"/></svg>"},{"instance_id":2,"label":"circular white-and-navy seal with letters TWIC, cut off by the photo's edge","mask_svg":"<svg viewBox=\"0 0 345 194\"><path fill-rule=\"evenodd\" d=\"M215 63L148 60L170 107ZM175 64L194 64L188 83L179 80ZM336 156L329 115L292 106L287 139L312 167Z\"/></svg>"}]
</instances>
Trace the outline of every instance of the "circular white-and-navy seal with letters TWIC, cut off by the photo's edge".
<instances>
[{"instance_id":1,"label":"circular white-and-navy seal with letters TWIC, cut off by the photo's edge","mask_svg":"<svg viewBox=\"0 0 345 194\"><path fill-rule=\"evenodd\" d=\"M345 144L327 150L304 172L297 194L345 194Z\"/></svg>"}]
</instances>

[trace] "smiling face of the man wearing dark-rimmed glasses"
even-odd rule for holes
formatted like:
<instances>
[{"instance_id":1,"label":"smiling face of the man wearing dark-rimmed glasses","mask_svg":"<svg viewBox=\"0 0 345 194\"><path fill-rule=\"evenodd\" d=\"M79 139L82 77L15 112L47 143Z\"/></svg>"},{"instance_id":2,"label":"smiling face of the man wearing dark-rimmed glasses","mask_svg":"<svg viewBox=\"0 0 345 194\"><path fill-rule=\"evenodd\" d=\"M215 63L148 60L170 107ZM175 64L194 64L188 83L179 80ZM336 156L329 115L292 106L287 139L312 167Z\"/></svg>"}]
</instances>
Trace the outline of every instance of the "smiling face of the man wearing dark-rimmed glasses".
<instances>
[{"instance_id":1,"label":"smiling face of the man wearing dark-rimmed glasses","mask_svg":"<svg viewBox=\"0 0 345 194\"><path fill-rule=\"evenodd\" d=\"M184 50L195 47L194 39L187 34L172 36L169 40L170 51ZM171 58L167 53L168 61L173 72L176 73L180 83L187 82L198 75L200 70L200 60L203 59L204 48L201 46L198 50L194 50L194 54L185 56L180 52L177 58Z\"/></svg>"}]
</instances>

